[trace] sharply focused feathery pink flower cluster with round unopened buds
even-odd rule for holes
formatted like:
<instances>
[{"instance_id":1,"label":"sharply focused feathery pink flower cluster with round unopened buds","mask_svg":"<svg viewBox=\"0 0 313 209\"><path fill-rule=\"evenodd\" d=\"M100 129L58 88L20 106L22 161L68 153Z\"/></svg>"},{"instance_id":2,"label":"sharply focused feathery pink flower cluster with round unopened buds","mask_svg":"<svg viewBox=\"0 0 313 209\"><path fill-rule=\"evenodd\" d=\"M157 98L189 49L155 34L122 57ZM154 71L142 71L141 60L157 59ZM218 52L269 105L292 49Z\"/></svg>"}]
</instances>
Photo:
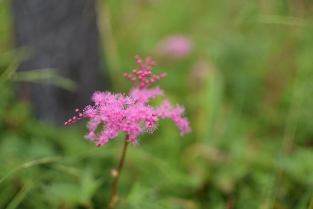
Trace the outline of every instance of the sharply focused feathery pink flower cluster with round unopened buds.
<instances>
[{"instance_id":1,"label":"sharply focused feathery pink flower cluster with round unopened buds","mask_svg":"<svg viewBox=\"0 0 313 209\"><path fill-rule=\"evenodd\" d=\"M182 117L184 107L178 104L174 107L167 100L164 100L159 107L152 107L146 104L150 98L163 95L163 91L158 86L153 89L147 89L147 87L164 78L166 74L152 75L151 66L156 65L156 62L147 58L146 62L142 63L139 56L135 58L140 70L133 70L134 77L126 73L124 74L137 86L131 89L130 97L108 91L95 92L91 97L91 101L95 104L86 106L83 113L76 109L79 118L73 117L73 119L65 122L65 125L69 125L81 118L89 117L90 120L87 123L89 133L85 135L85 138L95 142L97 147L104 145L110 138L117 136L118 131L129 134L128 141L137 146L140 140L137 137L140 134L145 132L153 133L157 129L158 117L171 118L181 130L180 135L190 132L191 128L188 118ZM103 130L95 133L100 124Z\"/></svg>"}]
</instances>

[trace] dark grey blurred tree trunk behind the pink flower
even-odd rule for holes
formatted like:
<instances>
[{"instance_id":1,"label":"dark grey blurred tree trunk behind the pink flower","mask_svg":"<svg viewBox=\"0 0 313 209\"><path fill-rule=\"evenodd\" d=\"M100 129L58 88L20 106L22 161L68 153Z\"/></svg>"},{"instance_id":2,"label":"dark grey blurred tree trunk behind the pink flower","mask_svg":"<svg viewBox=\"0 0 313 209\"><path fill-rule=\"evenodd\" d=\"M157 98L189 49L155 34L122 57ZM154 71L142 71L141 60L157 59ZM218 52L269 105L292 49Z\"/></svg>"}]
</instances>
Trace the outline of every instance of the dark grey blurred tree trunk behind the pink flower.
<instances>
[{"instance_id":1,"label":"dark grey blurred tree trunk behind the pink flower","mask_svg":"<svg viewBox=\"0 0 313 209\"><path fill-rule=\"evenodd\" d=\"M21 83L37 117L57 123L77 116L103 91L99 35L94 0L12 0L16 46L30 46L33 56L19 71L58 68L60 76L78 83L73 93L52 85Z\"/></svg>"}]
</instances>

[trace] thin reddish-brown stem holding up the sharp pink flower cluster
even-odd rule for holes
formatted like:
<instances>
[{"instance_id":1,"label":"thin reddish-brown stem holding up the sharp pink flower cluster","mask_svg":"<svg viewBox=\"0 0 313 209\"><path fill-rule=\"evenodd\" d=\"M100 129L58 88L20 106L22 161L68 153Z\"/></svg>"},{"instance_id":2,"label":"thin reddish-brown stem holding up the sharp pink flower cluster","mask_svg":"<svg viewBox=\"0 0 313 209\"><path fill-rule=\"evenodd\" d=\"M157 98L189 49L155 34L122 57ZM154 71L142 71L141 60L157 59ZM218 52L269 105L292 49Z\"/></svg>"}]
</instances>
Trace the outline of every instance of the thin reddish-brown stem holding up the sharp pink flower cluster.
<instances>
[{"instance_id":1,"label":"thin reddish-brown stem holding up the sharp pink flower cluster","mask_svg":"<svg viewBox=\"0 0 313 209\"><path fill-rule=\"evenodd\" d=\"M117 190L117 183L120 177L120 174L122 172L122 168L123 168L123 164L125 161L125 156L126 156L126 151L127 151L127 147L128 147L128 139L129 139L129 134L126 134L126 139L125 139L125 144L124 144L124 148L123 148L123 153L122 153L122 157L120 160L120 163L118 165L118 169L117 169L117 175L114 178L114 182L113 182L113 186L112 186L112 194L111 194L111 200L110 200L110 204L108 206L109 209L113 209L115 208L115 206L118 204L118 194L116 192Z\"/></svg>"}]
</instances>

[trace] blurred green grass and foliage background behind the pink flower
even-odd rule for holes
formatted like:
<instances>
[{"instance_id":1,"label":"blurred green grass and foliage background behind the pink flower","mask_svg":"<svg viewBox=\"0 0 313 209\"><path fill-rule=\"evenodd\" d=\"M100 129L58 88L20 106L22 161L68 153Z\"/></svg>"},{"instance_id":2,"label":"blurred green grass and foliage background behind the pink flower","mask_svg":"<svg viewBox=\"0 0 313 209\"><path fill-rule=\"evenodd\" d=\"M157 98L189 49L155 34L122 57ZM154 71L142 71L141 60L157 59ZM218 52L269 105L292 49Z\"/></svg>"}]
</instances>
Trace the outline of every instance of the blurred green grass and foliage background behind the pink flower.
<instances>
[{"instance_id":1,"label":"blurred green grass and foliage background behind the pink flower","mask_svg":"<svg viewBox=\"0 0 313 209\"><path fill-rule=\"evenodd\" d=\"M134 55L152 56L168 75L152 103L183 104L193 129L160 120L129 147L117 209L313 209L312 1L106 0L97 12L110 90L127 93ZM97 148L87 120L35 119L16 97L12 27L2 0L0 209L106 208L123 134ZM192 43L184 57L161 52L174 35Z\"/></svg>"}]
</instances>

